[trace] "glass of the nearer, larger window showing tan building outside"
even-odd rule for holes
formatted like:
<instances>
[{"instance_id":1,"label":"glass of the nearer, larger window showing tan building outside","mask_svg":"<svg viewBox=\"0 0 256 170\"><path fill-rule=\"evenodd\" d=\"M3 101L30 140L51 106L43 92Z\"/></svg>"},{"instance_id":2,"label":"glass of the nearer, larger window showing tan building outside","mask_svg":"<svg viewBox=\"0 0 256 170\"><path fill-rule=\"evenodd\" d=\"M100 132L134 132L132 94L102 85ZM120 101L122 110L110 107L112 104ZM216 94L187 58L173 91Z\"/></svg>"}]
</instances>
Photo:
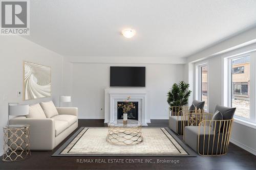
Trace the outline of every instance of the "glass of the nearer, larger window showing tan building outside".
<instances>
[{"instance_id":1,"label":"glass of the nearer, larger window showing tan building outside","mask_svg":"<svg viewBox=\"0 0 256 170\"><path fill-rule=\"evenodd\" d=\"M235 115L250 118L250 57L234 57L229 59L230 71L230 106L236 107Z\"/></svg>"}]
</instances>

